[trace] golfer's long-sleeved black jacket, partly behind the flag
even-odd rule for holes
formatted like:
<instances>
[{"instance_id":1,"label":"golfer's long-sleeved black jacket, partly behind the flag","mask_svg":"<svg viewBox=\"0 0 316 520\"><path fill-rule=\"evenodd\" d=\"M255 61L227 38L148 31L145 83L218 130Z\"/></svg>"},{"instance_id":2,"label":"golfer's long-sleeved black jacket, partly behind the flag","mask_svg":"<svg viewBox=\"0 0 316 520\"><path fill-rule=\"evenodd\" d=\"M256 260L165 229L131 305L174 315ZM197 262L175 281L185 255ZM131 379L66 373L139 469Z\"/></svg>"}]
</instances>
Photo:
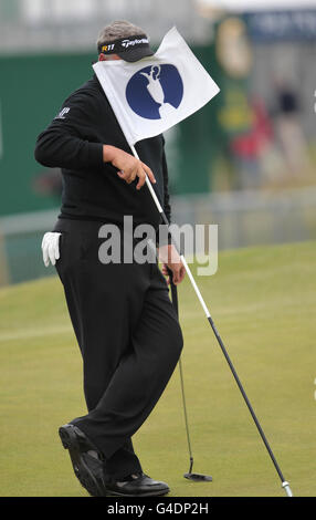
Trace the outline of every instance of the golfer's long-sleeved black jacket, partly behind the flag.
<instances>
[{"instance_id":1,"label":"golfer's long-sleeved black jacket, partly behind the flag","mask_svg":"<svg viewBox=\"0 0 316 520\"><path fill-rule=\"evenodd\" d=\"M159 135L136 144L139 158L156 177L154 189L170 221L168 170ZM35 159L43 166L59 167L63 176L61 218L101 220L120 225L131 215L134 225L155 228L160 216L147 186L136 190L137 179L128 185L110 163L103 162L103 145L131 153L114 112L96 76L75 91L60 114L40 134Z\"/></svg>"}]
</instances>

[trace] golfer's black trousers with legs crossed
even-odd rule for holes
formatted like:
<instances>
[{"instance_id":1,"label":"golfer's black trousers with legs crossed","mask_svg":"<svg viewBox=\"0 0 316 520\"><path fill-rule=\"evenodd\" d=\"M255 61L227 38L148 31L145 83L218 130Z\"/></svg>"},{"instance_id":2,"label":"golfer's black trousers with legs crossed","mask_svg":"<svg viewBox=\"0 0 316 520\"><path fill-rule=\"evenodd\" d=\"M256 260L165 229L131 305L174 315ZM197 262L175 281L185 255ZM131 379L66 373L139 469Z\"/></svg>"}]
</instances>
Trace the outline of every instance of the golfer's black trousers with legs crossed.
<instances>
[{"instance_id":1,"label":"golfer's black trousers with legs crossed","mask_svg":"<svg viewBox=\"0 0 316 520\"><path fill-rule=\"evenodd\" d=\"M56 270L83 356L88 413L72 420L105 457L106 474L141 470L131 436L161 396L182 334L157 263L98 259L102 222L59 219Z\"/></svg>"}]
</instances>

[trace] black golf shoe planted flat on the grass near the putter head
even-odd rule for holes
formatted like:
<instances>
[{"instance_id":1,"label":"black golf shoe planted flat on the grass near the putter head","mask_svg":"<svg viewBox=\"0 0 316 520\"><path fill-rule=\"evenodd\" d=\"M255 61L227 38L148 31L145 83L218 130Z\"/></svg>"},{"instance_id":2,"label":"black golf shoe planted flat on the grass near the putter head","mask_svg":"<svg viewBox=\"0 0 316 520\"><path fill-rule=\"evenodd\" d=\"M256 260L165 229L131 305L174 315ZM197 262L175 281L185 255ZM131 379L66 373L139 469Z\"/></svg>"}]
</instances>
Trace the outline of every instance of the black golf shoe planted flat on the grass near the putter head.
<instances>
[{"instance_id":1,"label":"black golf shoe planted flat on the grass near the putter head","mask_svg":"<svg viewBox=\"0 0 316 520\"><path fill-rule=\"evenodd\" d=\"M106 482L106 493L114 497L158 497L168 492L167 483L152 480L141 471L123 481Z\"/></svg>"}]
</instances>

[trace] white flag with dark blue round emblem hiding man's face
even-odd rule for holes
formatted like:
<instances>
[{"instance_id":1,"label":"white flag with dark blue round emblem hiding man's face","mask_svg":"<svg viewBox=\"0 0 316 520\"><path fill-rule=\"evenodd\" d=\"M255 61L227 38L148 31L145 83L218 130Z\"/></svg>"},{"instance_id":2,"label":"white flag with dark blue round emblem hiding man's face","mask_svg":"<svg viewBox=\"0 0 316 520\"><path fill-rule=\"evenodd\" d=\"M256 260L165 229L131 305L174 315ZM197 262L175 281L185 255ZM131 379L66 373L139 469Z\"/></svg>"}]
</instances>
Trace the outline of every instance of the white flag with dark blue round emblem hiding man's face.
<instances>
[{"instance_id":1,"label":"white flag with dark blue round emblem hiding man's face","mask_svg":"<svg viewBox=\"0 0 316 520\"><path fill-rule=\"evenodd\" d=\"M176 28L152 56L99 61L93 69L131 146L166 132L220 91Z\"/></svg>"}]
</instances>

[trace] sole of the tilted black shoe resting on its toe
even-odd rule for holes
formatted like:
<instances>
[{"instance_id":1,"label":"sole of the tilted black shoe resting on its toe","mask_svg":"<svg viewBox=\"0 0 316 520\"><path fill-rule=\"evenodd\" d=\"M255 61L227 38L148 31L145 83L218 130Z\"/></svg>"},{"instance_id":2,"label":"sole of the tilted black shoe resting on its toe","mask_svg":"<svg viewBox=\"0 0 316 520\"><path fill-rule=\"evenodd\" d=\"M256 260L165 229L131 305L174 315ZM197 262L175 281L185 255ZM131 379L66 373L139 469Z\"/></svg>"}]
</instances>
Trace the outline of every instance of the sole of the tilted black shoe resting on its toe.
<instances>
[{"instance_id":1,"label":"sole of the tilted black shoe resting on its toe","mask_svg":"<svg viewBox=\"0 0 316 520\"><path fill-rule=\"evenodd\" d=\"M70 453L73 469L80 483L92 497L105 497L105 489L99 486L99 482L82 457L74 426L61 426L59 435L63 447Z\"/></svg>"}]
</instances>

